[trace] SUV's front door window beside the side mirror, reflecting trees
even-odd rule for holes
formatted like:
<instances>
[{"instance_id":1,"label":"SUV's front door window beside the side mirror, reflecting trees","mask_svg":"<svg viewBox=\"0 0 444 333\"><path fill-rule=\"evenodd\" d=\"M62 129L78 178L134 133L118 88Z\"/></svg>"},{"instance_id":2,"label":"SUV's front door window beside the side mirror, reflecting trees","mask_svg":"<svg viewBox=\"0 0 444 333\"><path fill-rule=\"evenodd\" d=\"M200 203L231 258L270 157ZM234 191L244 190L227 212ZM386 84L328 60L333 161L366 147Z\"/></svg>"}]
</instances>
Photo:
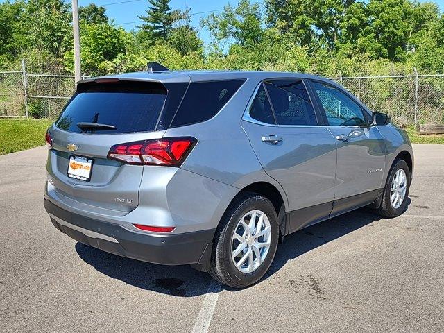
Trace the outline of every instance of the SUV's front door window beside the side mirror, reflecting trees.
<instances>
[{"instance_id":1,"label":"SUV's front door window beside the side mirror, reflecting trees","mask_svg":"<svg viewBox=\"0 0 444 333\"><path fill-rule=\"evenodd\" d=\"M331 85L314 83L324 108L327 120L331 126L363 126L366 119L361 106Z\"/></svg>"}]
</instances>

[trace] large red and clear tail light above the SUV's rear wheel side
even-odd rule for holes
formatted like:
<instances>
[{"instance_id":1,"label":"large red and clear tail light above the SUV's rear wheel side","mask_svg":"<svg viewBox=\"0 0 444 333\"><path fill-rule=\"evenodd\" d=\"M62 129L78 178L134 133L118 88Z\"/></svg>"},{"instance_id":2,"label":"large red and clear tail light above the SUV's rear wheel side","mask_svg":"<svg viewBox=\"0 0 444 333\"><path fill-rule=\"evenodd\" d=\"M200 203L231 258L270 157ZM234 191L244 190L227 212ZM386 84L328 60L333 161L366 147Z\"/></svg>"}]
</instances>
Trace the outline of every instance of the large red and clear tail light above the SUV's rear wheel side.
<instances>
[{"instance_id":1,"label":"large red and clear tail light above the SUV's rear wheel side","mask_svg":"<svg viewBox=\"0 0 444 333\"><path fill-rule=\"evenodd\" d=\"M168 137L111 147L108 158L126 164L179 167L197 140L194 137Z\"/></svg>"}]
</instances>

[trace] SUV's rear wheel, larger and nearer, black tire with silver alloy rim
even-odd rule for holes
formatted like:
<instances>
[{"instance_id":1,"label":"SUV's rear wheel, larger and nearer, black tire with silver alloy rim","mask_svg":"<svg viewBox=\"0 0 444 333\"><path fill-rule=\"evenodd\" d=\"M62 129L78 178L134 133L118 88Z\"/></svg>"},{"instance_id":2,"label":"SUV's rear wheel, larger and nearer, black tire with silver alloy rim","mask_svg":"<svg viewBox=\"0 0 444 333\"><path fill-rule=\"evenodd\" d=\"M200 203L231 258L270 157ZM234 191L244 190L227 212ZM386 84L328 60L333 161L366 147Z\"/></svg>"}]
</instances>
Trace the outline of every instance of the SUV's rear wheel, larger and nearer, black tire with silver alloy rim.
<instances>
[{"instance_id":1,"label":"SUV's rear wheel, larger and nearer, black tire with silver alloy rim","mask_svg":"<svg viewBox=\"0 0 444 333\"><path fill-rule=\"evenodd\" d=\"M214 236L210 275L234 288L259 281L278 248L278 216L270 200L246 193L228 207Z\"/></svg>"}]
</instances>

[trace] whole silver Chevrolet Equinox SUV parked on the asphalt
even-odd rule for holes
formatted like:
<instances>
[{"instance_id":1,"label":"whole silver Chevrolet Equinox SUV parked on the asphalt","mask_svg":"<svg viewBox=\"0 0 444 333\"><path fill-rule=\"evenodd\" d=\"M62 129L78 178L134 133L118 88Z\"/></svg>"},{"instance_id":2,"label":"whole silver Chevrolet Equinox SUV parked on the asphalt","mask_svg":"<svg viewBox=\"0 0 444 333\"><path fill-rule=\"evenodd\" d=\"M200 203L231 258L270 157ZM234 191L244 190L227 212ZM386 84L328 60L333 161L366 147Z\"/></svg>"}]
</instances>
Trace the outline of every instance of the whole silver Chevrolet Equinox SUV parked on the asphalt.
<instances>
[{"instance_id":1,"label":"whole silver Chevrolet Equinox SUV parked on the asphalt","mask_svg":"<svg viewBox=\"0 0 444 333\"><path fill-rule=\"evenodd\" d=\"M407 210L404 130L318 76L147 71L78 84L46 133L44 207L101 250L261 279L291 232Z\"/></svg>"}]
</instances>

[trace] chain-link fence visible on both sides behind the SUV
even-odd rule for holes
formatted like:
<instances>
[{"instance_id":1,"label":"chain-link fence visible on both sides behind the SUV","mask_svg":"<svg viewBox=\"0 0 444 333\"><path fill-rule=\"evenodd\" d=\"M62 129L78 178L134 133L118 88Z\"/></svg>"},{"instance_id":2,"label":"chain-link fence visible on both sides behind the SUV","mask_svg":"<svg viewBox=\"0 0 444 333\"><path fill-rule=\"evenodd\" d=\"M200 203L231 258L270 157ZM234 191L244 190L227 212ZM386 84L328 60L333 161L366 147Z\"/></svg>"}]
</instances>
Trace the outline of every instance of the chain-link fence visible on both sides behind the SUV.
<instances>
[{"instance_id":1,"label":"chain-link fence visible on both sides behind the SUV","mask_svg":"<svg viewBox=\"0 0 444 333\"><path fill-rule=\"evenodd\" d=\"M444 123L444 74L332 78L371 110L402 126ZM74 76L0 72L0 117L56 119L74 93Z\"/></svg>"}]
</instances>

